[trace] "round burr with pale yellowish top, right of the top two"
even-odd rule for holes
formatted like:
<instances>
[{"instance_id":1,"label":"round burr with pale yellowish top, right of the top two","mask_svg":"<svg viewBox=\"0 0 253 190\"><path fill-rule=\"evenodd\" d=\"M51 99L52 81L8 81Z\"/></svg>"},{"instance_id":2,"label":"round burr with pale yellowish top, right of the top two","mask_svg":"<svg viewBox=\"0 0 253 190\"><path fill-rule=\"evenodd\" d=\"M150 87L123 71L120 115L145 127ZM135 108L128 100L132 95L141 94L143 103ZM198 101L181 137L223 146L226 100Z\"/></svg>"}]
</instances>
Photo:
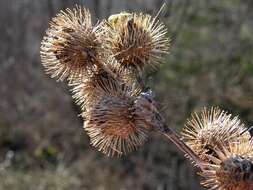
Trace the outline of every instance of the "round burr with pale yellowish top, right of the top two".
<instances>
[{"instance_id":1,"label":"round burr with pale yellowish top, right of the top two","mask_svg":"<svg viewBox=\"0 0 253 190\"><path fill-rule=\"evenodd\" d=\"M169 38L165 25L142 13L120 13L109 17L102 25L104 45L111 50L121 69L142 71L156 67L168 53Z\"/></svg>"}]
</instances>

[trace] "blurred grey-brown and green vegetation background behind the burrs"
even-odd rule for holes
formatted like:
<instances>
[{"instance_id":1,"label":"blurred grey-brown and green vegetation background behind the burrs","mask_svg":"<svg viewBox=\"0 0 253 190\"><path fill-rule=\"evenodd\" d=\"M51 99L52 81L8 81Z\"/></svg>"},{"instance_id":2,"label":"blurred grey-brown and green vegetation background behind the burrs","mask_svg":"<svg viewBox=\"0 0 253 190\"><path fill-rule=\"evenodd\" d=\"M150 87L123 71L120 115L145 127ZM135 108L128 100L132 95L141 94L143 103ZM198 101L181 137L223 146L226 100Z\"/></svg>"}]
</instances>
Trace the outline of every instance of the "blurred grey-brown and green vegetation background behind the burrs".
<instances>
[{"instance_id":1,"label":"blurred grey-brown and green vegetation background behind the burrs","mask_svg":"<svg viewBox=\"0 0 253 190\"><path fill-rule=\"evenodd\" d=\"M174 145L153 134L138 151L107 158L89 145L63 83L40 64L40 42L61 9L84 5L94 22L143 11L172 38L162 67L147 75L169 126L180 130L203 106L219 105L253 122L253 1L1 0L0 190L200 190Z\"/></svg>"}]
</instances>

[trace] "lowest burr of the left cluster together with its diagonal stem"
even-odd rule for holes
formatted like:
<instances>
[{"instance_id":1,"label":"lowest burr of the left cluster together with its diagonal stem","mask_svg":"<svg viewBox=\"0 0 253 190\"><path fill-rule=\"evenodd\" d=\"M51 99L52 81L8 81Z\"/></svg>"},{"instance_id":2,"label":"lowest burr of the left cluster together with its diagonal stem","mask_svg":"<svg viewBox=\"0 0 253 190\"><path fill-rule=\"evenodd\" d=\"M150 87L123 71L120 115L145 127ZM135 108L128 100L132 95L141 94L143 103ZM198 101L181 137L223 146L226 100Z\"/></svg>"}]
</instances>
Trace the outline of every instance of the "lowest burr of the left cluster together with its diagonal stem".
<instances>
[{"instance_id":1,"label":"lowest burr of the left cluster together with its diagonal stem","mask_svg":"<svg viewBox=\"0 0 253 190\"><path fill-rule=\"evenodd\" d=\"M198 156L166 126L151 92L132 94L122 87L115 90L83 113L84 129L92 145L109 156L120 156L142 145L149 133L156 131L175 143L197 166L203 166Z\"/></svg>"}]
</instances>

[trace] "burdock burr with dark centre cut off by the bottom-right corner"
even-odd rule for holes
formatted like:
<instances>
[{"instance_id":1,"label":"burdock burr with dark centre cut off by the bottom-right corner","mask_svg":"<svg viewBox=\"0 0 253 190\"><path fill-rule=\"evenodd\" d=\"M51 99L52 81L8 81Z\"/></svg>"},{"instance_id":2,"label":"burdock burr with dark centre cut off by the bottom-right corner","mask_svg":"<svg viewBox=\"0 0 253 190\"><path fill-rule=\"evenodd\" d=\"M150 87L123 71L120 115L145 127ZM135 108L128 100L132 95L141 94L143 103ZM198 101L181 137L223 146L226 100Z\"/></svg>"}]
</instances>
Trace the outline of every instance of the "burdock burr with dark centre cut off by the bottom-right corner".
<instances>
[{"instance_id":1,"label":"burdock burr with dark centre cut off by the bottom-right corner","mask_svg":"<svg viewBox=\"0 0 253 190\"><path fill-rule=\"evenodd\" d=\"M253 143L247 138L229 142L229 146L216 148L216 157L209 156L209 164L201 172L202 185L218 190L253 189Z\"/></svg>"}]
</instances>

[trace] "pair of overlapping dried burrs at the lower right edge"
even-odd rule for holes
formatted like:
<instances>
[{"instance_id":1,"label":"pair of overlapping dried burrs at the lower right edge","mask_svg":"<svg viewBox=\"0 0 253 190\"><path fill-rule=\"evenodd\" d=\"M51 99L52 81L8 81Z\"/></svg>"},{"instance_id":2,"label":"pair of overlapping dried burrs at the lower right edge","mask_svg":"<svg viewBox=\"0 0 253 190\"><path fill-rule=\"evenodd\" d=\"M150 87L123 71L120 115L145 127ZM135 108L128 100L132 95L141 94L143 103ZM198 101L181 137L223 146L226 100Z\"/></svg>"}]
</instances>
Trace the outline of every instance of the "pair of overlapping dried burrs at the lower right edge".
<instances>
[{"instance_id":1,"label":"pair of overlapping dried burrs at the lower right edge","mask_svg":"<svg viewBox=\"0 0 253 190\"><path fill-rule=\"evenodd\" d=\"M202 185L217 190L253 189L253 142L238 117L219 108L192 114L182 137L206 164Z\"/></svg>"}]
</instances>

